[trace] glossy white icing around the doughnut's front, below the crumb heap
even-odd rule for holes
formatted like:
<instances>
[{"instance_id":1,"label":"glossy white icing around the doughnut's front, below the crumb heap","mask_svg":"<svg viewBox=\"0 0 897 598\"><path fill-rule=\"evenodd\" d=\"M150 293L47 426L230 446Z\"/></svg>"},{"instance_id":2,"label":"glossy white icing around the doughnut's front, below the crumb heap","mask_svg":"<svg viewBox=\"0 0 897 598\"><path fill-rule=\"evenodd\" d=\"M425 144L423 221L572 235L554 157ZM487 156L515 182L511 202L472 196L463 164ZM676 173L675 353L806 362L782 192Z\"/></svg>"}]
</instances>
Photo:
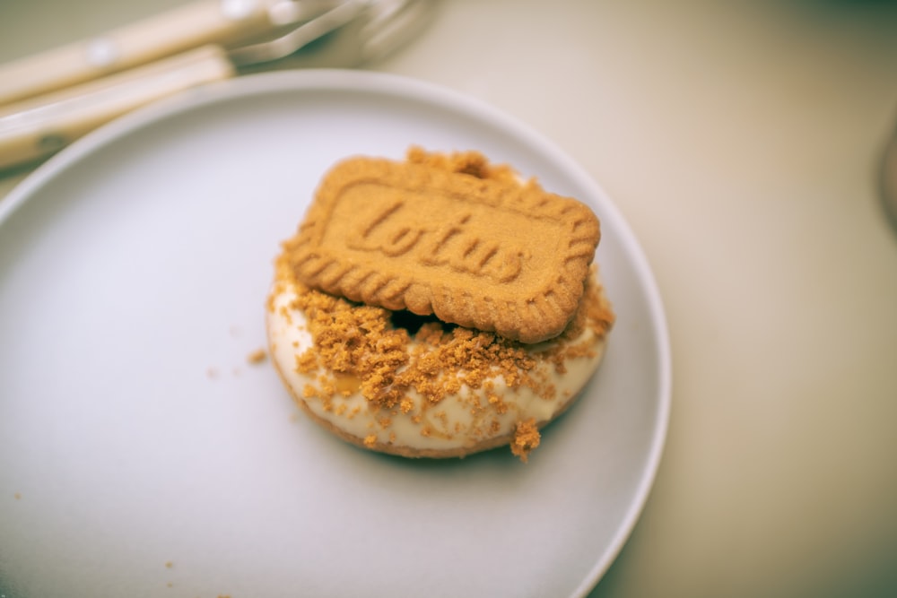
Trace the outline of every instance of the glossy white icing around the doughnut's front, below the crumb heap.
<instances>
[{"instance_id":1,"label":"glossy white icing around the doughnut's front, below the crumb heap","mask_svg":"<svg viewBox=\"0 0 897 598\"><path fill-rule=\"evenodd\" d=\"M535 420L541 425L552 420L585 386L602 359L605 346L604 335L597 334L588 325L575 339L531 345L527 351L536 358L536 366L528 375L544 383L540 384L542 388L554 386L553 396L548 398L528 386L511 388L499 374L492 378L491 393L483 387L462 385L457 393L435 404L410 389L405 398L413 406L407 410L371 403L361 394L357 380L356 384L350 381L341 389L345 392L324 399L317 393L307 392L309 387L320 386L320 372L306 373L297 367L298 357L314 347L314 340L304 313L293 307L295 299L292 284L275 285L267 316L272 360L284 383L318 420L385 452L407 453L410 449L411 452L464 454L466 449L483 445L492 438L509 438L518 422ZM546 358L548 351L559 342L577 346L588 343L589 351L564 360L565 371L561 373L555 362ZM503 404L496 401L496 395Z\"/></svg>"}]
</instances>

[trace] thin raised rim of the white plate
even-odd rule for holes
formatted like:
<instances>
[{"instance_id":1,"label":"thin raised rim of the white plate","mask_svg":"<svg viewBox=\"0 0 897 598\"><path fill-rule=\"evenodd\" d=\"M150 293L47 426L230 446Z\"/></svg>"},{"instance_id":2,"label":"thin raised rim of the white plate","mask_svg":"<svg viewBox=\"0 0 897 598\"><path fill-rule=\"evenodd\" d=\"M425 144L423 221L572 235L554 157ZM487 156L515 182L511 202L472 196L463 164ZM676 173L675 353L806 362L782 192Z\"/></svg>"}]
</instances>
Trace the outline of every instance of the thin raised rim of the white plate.
<instances>
[{"instance_id":1,"label":"thin raised rim of the white plate","mask_svg":"<svg viewBox=\"0 0 897 598\"><path fill-rule=\"evenodd\" d=\"M54 178L65 173L67 169L73 168L80 160L87 158L93 152L97 152L109 143L129 134L135 134L145 126L152 126L158 121L175 117L188 110L207 108L220 102L253 95L266 95L282 91L326 90L374 92L429 105L438 105L443 109L489 120L498 128L511 131L527 140L527 143L531 143L541 152L548 152L553 160L561 163L563 168L576 179L577 185L588 189L592 195L602 198L604 201L601 206L604 211L602 219L613 220L617 230L623 231L624 234L618 238L618 241L625 247L634 267L633 274L646 291L644 299L649 311L650 327L654 332L652 334L653 342L658 354L658 394L654 397L657 402L657 419L654 429L651 431L651 443L645 466L635 488L635 498L631 500L604 553L597 555L595 565L571 594L579 597L586 596L597 586L607 569L623 550L623 546L628 542L657 479L666 446L672 408L672 350L666 311L658 283L650 268L648 258L629 223L623 217L623 213L619 211L605 190L588 175L585 169L579 166L576 160L563 152L560 146L553 143L544 134L537 132L535 128L499 108L493 107L484 100L437 83L425 82L405 75L349 69L305 69L248 74L222 82L209 83L155 101L118 117L75 140L61 152L57 152L40 164L37 169L13 186L9 194L0 201L0 230L3 230L4 225L10 221L14 212L30 198L38 195L40 189L47 186Z\"/></svg>"}]
</instances>

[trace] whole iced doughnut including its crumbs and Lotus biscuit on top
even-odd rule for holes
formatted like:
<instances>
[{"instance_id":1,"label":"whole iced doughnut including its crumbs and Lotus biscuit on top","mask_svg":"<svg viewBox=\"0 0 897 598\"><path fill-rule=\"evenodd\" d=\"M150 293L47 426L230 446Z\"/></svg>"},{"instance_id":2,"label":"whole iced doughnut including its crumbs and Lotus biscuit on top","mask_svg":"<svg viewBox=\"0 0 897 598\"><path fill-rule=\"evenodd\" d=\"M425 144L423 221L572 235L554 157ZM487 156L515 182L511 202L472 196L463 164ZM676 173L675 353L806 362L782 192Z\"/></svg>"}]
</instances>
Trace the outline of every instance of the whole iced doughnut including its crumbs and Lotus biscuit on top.
<instances>
[{"instance_id":1,"label":"whole iced doughnut including its crumbs and Lotus biscuit on top","mask_svg":"<svg viewBox=\"0 0 897 598\"><path fill-rule=\"evenodd\" d=\"M313 420L359 446L510 445L526 461L614 322L599 231L585 204L479 152L343 160L276 260L274 365Z\"/></svg>"}]
</instances>

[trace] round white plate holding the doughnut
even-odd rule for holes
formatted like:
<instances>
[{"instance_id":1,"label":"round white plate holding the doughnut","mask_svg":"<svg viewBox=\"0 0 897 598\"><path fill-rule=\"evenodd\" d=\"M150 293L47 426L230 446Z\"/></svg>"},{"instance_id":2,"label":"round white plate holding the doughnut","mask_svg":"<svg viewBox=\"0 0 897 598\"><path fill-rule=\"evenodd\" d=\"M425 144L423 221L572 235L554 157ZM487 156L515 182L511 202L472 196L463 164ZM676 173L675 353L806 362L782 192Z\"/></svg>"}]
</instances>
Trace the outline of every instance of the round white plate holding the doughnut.
<instances>
[{"instance_id":1,"label":"round white plate holding the doughnut","mask_svg":"<svg viewBox=\"0 0 897 598\"><path fill-rule=\"evenodd\" d=\"M528 465L364 452L247 362L320 175L412 143L481 150L602 220L619 319ZM587 594L648 495L669 399L658 292L605 194L525 126L420 82L226 82L100 129L0 203L0 594Z\"/></svg>"}]
</instances>

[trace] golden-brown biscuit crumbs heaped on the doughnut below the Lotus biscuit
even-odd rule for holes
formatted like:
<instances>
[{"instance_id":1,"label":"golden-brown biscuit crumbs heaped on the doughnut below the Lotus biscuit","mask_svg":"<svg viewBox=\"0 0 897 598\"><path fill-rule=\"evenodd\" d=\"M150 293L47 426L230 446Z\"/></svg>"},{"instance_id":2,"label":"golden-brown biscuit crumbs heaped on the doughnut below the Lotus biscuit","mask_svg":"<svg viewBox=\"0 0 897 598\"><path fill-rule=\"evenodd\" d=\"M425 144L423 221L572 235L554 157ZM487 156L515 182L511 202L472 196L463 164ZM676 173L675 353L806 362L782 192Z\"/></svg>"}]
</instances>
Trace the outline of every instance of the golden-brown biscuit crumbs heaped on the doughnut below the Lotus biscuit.
<instances>
[{"instance_id":1,"label":"golden-brown biscuit crumbs heaped on the doughnut below the Lotus biscuit","mask_svg":"<svg viewBox=\"0 0 897 598\"><path fill-rule=\"evenodd\" d=\"M305 314L313 339L313 346L297 353L295 360L296 371L317 375L318 385L306 386L305 395L327 399L361 391L375 406L405 413L412 408L406 400L410 390L436 405L463 386L491 391L500 377L512 390L527 386L553 400L556 389L535 375L537 363L549 362L562 372L566 360L594 351L594 339L575 342L584 327L602 338L614 321L594 276L589 276L570 325L541 348L448 325L433 316L375 308L309 289L292 277L284 256L277 269L280 280L292 279L297 297L291 308ZM492 393L490 402L501 409L499 394Z\"/></svg>"}]
</instances>

